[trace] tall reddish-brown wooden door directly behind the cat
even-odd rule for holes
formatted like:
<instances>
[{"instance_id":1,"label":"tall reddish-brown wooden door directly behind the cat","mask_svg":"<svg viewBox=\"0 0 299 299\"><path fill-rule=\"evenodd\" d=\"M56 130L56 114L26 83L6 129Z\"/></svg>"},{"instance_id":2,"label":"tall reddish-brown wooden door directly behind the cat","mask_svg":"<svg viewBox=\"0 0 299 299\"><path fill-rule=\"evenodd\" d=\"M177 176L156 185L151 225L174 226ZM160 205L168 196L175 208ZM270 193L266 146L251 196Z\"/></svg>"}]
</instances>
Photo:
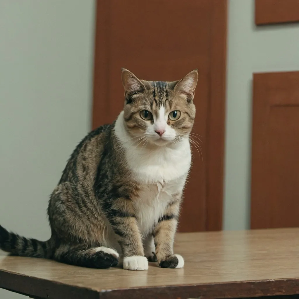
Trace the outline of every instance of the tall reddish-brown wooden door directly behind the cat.
<instances>
[{"instance_id":1,"label":"tall reddish-brown wooden door directly behind the cat","mask_svg":"<svg viewBox=\"0 0 299 299\"><path fill-rule=\"evenodd\" d=\"M225 0L97 1L93 128L123 108L121 67L164 81L199 69L193 133L202 149L193 148L180 231L221 229L225 45Z\"/></svg>"}]
</instances>

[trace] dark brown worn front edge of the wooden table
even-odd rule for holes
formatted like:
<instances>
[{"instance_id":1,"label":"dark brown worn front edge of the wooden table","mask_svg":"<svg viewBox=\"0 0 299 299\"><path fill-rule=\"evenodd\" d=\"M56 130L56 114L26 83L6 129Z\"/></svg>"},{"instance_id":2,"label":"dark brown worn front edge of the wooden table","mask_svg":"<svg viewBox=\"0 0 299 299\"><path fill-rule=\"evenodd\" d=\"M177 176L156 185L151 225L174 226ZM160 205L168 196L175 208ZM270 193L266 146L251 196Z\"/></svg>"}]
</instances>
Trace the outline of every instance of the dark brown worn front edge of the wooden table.
<instances>
[{"instance_id":1,"label":"dark brown worn front edge of the wooden table","mask_svg":"<svg viewBox=\"0 0 299 299\"><path fill-rule=\"evenodd\" d=\"M0 288L39 298L132 299L150 298L245 298L299 294L299 277L270 280L144 286L129 289L95 290L44 278L0 270Z\"/></svg>"}]
</instances>

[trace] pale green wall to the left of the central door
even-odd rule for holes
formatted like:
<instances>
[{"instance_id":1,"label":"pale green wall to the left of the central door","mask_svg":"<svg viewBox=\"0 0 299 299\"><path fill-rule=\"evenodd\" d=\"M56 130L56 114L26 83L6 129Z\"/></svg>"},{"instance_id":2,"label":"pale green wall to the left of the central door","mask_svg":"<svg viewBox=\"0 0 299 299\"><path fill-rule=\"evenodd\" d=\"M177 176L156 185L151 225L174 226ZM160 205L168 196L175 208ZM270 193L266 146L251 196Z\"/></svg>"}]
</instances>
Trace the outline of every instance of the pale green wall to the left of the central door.
<instances>
[{"instance_id":1,"label":"pale green wall to the left of the central door","mask_svg":"<svg viewBox=\"0 0 299 299\"><path fill-rule=\"evenodd\" d=\"M93 43L94 0L0 0L0 223L21 235L50 236L49 195L90 129Z\"/></svg>"}]
</instances>

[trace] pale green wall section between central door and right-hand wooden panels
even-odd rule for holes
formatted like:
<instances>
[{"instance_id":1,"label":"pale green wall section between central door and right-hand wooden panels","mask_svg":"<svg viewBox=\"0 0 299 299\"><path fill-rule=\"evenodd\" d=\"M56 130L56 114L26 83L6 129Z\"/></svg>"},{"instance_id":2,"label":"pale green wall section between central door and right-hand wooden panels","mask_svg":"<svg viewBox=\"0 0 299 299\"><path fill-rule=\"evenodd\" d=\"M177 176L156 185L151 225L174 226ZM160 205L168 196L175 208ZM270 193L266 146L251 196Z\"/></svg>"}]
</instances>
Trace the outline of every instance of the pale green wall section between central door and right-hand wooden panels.
<instances>
[{"instance_id":1,"label":"pale green wall section between central door and right-hand wooden panels","mask_svg":"<svg viewBox=\"0 0 299 299\"><path fill-rule=\"evenodd\" d=\"M224 228L249 228L252 73L299 70L299 24L256 28L254 0L228 9Z\"/></svg>"}]
</instances>

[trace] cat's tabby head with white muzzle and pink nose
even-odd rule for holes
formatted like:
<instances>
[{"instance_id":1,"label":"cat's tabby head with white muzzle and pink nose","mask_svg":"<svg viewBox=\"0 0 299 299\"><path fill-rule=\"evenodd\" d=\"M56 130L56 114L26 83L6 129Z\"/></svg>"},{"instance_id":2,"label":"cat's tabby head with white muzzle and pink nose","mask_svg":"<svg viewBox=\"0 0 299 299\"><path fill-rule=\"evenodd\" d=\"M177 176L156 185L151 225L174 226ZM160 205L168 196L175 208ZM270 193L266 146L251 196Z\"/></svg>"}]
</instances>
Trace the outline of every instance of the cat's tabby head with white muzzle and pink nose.
<instances>
[{"instance_id":1,"label":"cat's tabby head with white muzzle and pink nose","mask_svg":"<svg viewBox=\"0 0 299 299\"><path fill-rule=\"evenodd\" d=\"M164 82L139 80L122 69L123 116L129 134L161 146L188 136L195 118L193 97L197 80L197 70L181 80Z\"/></svg>"}]
</instances>

